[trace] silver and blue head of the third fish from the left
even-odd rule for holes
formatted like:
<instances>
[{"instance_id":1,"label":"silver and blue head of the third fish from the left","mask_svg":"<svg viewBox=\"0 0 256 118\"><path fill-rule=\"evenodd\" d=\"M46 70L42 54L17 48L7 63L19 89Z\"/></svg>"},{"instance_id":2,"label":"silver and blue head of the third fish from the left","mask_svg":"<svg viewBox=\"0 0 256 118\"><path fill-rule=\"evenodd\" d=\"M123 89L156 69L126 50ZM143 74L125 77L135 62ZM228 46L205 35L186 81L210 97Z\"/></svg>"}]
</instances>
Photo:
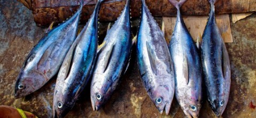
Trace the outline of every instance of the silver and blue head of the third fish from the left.
<instances>
[{"instance_id":1,"label":"silver and blue head of the third fish from the left","mask_svg":"<svg viewBox=\"0 0 256 118\"><path fill-rule=\"evenodd\" d=\"M113 93L112 90L112 80L106 79L103 76L100 79L95 79L99 81L94 81L94 78L91 82L91 106L94 111L98 111L100 107L110 98Z\"/></svg>"}]
</instances>

